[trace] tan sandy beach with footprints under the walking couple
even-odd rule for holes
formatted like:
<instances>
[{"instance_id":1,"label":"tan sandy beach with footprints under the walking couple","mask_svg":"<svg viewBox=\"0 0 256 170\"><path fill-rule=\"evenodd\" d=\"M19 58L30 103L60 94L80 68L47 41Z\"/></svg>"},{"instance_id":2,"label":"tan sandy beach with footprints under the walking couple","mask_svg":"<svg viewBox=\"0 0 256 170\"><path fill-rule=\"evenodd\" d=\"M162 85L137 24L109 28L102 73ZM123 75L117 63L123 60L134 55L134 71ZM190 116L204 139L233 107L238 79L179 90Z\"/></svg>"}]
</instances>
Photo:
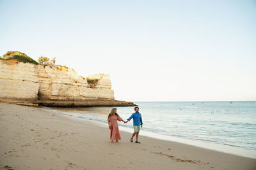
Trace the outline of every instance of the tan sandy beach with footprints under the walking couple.
<instances>
[{"instance_id":1,"label":"tan sandy beach with footprints under the walking couple","mask_svg":"<svg viewBox=\"0 0 256 170\"><path fill-rule=\"evenodd\" d=\"M109 129L49 109L0 103L1 169L256 169L256 159Z\"/></svg>"}]
</instances>

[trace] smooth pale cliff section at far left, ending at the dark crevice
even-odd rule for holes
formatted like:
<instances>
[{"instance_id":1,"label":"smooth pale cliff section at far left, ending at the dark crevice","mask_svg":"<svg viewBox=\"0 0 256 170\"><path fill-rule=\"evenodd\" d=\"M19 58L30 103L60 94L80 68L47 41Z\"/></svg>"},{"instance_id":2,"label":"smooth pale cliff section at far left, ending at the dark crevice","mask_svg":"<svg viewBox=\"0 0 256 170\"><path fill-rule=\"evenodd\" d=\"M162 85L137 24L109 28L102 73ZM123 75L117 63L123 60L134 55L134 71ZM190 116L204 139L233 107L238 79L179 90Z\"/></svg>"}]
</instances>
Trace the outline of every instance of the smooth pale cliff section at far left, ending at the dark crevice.
<instances>
[{"instance_id":1,"label":"smooth pale cliff section at far left, ending at the dark crevice","mask_svg":"<svg viewBox=\"0 0 256 170\"><path fill-rule=\"evenodd\" d=\"M39 85L35 64L0 60L1 100L36 101Z\"/></svg>"}]
</instances>

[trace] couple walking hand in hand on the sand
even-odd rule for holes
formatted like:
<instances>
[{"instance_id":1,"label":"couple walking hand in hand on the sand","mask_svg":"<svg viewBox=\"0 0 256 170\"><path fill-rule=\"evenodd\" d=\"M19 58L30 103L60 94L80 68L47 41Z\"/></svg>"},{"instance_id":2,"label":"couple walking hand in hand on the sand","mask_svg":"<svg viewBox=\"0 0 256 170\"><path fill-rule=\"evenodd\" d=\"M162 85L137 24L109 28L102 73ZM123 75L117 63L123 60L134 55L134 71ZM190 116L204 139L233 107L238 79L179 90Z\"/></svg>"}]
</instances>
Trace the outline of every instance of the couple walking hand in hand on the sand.
<instances>
[{"instance_id":1,"label":"couple walking hand in hand on the sand","mask_svg":"<svg viewBox=\"0 0 256 170\"><path fill-rule=\"evenodd\" d=\"M124 121L117 113L116 113L116 108L113 108L111 112L108 115L108 128L110 129L110 140L113 142L116 140L121 140L121 136L118 130L118 123L119 122L124 122L125 124L129 122L133 118L133 128L134 128L134 133L132 134L131 142L133 142L133 137L136 136L136 141L135 143L140 143L138 141L139 138L139 132L140 132L140 127L142 127L142 118L141 114L139 113L139 108L135 107L134 108L135 112L132 113L131 117L127 119L127 121Z\"/></svg>"}]
</instances>

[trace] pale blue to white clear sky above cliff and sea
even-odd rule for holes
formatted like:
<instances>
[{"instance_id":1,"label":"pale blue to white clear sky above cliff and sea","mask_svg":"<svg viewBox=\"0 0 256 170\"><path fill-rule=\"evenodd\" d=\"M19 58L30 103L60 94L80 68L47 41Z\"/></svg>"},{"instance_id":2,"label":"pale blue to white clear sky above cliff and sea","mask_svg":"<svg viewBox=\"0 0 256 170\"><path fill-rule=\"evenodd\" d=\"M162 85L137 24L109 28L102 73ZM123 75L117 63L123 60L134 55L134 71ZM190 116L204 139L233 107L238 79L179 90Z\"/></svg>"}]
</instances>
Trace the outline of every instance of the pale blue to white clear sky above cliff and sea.
<instances>
[{"instance_id":1,"label":"pale blue to white clear sky above cliff and sea","mask_svg":"<svg viewBox=\"0 0 256 170\"><path fill-rule=\"evenodd\" d=\"M124 101L256 101L256 1L0 0L0 55L20 51Z\"/></svg>"}]
</instances>

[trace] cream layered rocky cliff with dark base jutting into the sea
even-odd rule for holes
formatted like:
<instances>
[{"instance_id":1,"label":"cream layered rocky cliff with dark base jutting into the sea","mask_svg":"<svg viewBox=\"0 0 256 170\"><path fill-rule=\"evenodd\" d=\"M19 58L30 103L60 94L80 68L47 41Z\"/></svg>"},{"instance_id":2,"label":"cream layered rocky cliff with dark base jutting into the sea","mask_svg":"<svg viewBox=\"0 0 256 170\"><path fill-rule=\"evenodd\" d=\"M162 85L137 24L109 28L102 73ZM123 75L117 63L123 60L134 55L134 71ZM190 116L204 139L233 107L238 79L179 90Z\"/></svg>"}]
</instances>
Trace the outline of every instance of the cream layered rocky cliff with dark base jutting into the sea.
<instances>
[{"instance_id":1,"label":"cream layered rocky cliff with dark base jutting into the sea","mask_svg":"<svg viewBox=\"0 0 256 170\"><path fill-rule=\"evenodd\" d=\"M41 106L135 106L116 101L107 74L83 78L65 66L0 60L0 101Z\"/></svg>"}]
</instances>

